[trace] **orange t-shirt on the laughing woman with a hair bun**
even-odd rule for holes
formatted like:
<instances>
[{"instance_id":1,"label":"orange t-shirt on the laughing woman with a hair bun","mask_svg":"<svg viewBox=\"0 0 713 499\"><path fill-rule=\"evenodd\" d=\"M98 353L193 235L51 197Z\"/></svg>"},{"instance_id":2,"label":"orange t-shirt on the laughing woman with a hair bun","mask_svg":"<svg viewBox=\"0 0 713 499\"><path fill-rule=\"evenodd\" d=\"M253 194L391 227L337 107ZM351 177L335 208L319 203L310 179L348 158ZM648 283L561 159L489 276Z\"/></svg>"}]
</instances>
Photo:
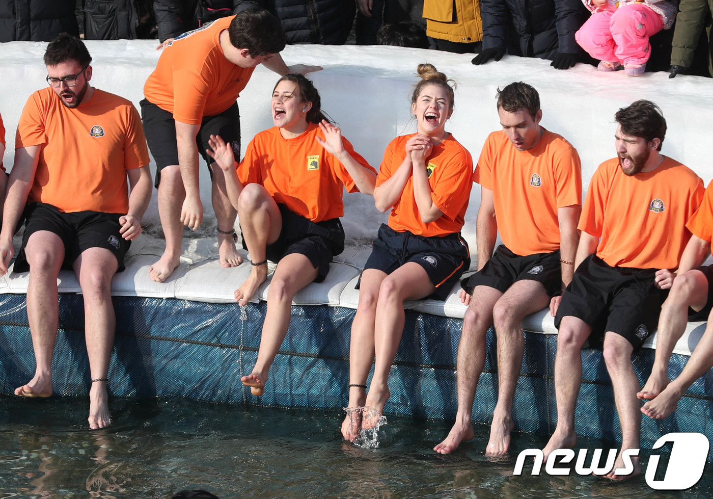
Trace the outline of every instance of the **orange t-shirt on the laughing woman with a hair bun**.
<instances>
[{"instance_id":1,"label":"orange t-shirt on the laughing woman with a hair bun","mask_svg":"<svg viewBox=\"0 0 713 499\"><path fill-rule=\"evenodd\" d=\"M376 186L380 186L396 172L406 158L406 142L416 135L411 133L394 138L386 146L384 161L379 166ZM453 135L449 135L431 151L426 166L431 186L431 199L443 216L429 223L421 221L419 207L414 197L414 178L409 176L401 197L391 207L389 227L396 232L410 231L419 236L447 236L461 231L463 216L471 198L471 176L473 159L468 149L461 146Z\"/></svg>"}]
</instances>

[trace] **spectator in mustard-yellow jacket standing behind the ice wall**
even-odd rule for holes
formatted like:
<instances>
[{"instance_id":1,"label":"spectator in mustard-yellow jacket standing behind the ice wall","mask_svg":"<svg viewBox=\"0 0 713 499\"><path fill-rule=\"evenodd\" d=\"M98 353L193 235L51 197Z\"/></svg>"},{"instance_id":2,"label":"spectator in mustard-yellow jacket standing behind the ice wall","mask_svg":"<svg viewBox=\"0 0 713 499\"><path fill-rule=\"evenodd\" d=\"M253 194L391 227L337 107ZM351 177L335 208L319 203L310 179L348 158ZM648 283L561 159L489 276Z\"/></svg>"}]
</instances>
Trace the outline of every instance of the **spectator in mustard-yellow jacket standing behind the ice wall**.
<instances>
[{"instance_id":1,"label":"spectator in mustard-yellow jacket standing behind the ice wall","mask_svg":"<svg viewBox=\"0 0 713 499\"><path fill-rule=\"evenodd\" d=\"M483 26L478 0L424 0L426 34L438 50L466 54L481 50Z\"/></svg>"}]
</instances>

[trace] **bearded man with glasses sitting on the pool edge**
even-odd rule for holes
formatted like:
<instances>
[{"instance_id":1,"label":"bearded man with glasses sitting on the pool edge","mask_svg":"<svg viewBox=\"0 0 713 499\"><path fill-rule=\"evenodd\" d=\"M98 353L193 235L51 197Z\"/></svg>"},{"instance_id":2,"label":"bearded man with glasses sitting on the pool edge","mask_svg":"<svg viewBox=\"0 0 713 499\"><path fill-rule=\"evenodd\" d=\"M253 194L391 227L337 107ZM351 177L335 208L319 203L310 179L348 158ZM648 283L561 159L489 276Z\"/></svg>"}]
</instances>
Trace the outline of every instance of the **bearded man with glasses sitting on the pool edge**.
<instances>
[{"instance_id":1,"label":"bearded man with glasses sitting on the pool edge","mask_svg":"<svg viewBox=\"0 0 713 499\"><path fill-rule=\"evenodd\" d=\"M73 269L84 298L88 421L90 428L104 428L111 424L106 385L116 326L110 284L141 233L151 196L148 150L130 101L89 85L91 56L79 39L61 34L48 44L44 61L50 86L32 94L20 116L0 231L4 275L15 227L25 219L14 272L29 271L36 371L15 395L52 395L57 276L61 268Z\"/></svg>"}]
</instances>

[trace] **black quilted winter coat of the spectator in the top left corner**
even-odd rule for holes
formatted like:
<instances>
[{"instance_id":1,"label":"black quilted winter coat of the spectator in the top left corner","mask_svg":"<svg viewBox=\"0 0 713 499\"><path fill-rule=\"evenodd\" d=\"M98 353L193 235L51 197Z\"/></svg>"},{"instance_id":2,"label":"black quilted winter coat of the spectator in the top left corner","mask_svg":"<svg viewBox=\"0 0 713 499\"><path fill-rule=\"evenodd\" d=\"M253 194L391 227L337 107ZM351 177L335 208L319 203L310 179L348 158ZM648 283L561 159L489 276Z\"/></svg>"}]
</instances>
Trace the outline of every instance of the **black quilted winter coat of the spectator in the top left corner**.
<instances>
[{"instance_id":1,"label":"black quilted winter coat of the spectator in the top left corner","mask_svg":"<svg viewBox=\"0 0 713 499\"><path fill-rule=\"evenodd\" d=\"M0 41L79 36L75 6L75 0L0 0Z\"/></svg>"}]
</instances>

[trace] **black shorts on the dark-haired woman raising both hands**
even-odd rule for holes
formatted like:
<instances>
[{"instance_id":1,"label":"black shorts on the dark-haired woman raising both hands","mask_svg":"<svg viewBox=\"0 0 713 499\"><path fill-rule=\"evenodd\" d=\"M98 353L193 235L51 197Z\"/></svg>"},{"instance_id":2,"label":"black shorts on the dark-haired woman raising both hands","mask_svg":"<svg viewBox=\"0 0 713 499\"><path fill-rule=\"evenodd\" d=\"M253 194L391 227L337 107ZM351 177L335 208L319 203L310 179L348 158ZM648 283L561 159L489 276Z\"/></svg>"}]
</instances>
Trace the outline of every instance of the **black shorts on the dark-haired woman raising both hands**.
<instances>
[{"instance_id":1,"label":"black shorts on the dark-haired woman raising both hands","mask_svg":"<svg viewBox=\"0 0 713 499\"><path fill-rule=\"evenodd\" d=\"M282 230L279 231L277 241L265 248L267 259L277 263L292 253L307 256L312 266L319 268L319 275L314 282L321 283L329 273L329 263L344 251L342 222L339 218L332 218L314 223L290 211L282 203L278 203L277 207L282 215ZM242 238L242 247L247 250L245 237Z\"/></svg>"}]
</instances>

